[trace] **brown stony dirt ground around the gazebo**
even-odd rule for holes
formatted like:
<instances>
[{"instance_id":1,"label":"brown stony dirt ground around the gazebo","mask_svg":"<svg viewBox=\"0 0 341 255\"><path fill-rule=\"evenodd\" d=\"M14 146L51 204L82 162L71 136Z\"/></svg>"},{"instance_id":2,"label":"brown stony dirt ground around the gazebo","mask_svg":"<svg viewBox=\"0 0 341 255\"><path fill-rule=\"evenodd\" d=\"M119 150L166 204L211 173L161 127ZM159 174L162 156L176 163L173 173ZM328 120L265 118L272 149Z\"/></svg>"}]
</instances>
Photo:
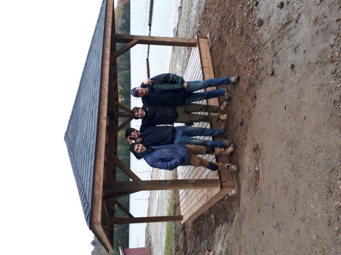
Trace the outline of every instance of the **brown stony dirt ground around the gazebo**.
<instances>
[{"instance_id":1,"label":"brown stony dirt ground around the gazebo","mask_svg":"<svg viewBox=\"0 0 341 255\"><path fill-rule=\"evenodd\" d=\"M215 77L241 77L228 110L241 170L237 195L175 223L175 254L341 254L341 0L203 2L181 2L177 37L209 33ZM171 71L188 54L175 48Z\"/></svg>"}]
</instances>

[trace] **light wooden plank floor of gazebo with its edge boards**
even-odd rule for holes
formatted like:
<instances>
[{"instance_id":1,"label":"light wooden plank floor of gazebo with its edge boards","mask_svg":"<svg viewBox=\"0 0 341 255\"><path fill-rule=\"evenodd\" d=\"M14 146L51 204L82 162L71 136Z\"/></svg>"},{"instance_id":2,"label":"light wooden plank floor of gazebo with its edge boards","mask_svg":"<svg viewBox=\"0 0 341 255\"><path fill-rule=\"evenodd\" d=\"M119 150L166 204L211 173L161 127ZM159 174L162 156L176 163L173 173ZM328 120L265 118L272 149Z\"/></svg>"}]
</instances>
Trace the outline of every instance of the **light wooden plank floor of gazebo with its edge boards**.
<instances>
[{"instance_id":1,"label":"light wooden plank floor of gazebo with its edge boards","mask_svg":"<svg viewBox=\"0 0 341 255\"><path fill-rule=\"evenodd\" d=\"M184 75L185 81L198 81L202 79L214 78L213 67L210 55L210 47L208 38L198 38L198 47L192 48L192 53ZM201 60L200 60L201 59ZM219 105L217 98L208 100L210 105ZM201 104L206 104L202 101ZM195 126L216 128L220 124L195 123ZM212 139L210 137L200 137L200 139ZM214 139L222 140L224 137L215 137ZM201 156L200 156L201 157ZM229 163L227 156L217 157L213 155L202 156L210 161L217 160L222 163ZM218 189L190 189L179 190L180 211L183 215L183 223L191 222L200 214L207 211L222 197L230 192L237 190L235 174L230 171L211 171L205 168L194 168L192 166L178 167L178 179L219 179L220 188Z\"/></svg>"}]
</instances>

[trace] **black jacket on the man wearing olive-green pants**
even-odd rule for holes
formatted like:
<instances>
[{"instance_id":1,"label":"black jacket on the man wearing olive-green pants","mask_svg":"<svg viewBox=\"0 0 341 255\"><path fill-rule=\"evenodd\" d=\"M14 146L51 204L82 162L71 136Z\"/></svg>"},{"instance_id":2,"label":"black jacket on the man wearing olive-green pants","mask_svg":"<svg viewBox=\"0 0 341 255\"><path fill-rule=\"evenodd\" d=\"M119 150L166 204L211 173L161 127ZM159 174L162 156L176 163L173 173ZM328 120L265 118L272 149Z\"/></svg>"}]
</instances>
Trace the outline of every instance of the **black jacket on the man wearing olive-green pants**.
<instances>
[{"instance_id":1,"label":"black jacket on the man wearing olive-green pants","mask_svg":"<svg viewBox=\"0 0 341 255\"><path fill-rule=\"evenodd\" d=\"M175 106L144 105L142 108L146 116L142 119L140 132L144 132L147 126L173 125L178 117Z\"/></svg>"}]
</instances>

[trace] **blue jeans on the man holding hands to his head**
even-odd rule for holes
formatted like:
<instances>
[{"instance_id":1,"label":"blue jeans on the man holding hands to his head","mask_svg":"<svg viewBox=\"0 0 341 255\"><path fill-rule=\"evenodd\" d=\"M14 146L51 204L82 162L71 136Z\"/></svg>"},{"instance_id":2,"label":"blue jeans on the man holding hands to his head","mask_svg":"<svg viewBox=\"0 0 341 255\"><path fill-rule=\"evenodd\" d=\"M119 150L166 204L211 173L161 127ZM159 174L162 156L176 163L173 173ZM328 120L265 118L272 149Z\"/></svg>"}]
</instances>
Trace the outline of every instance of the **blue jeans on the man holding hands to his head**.
<instances>
[{"instance_id":1,"label":"blue jeans on the man holding hands to his head","mask_svg":"<svg viewBox=\"0 0 341 255\"><path fill-rule=\"evenodd\" d=\"M222 133L222 129L206 129L195 126L175 126L174 144L193 144L206 147L223 148L224 141L210 141L193 138L193 136L216 136Z\"/></svg>"}]
</instances>

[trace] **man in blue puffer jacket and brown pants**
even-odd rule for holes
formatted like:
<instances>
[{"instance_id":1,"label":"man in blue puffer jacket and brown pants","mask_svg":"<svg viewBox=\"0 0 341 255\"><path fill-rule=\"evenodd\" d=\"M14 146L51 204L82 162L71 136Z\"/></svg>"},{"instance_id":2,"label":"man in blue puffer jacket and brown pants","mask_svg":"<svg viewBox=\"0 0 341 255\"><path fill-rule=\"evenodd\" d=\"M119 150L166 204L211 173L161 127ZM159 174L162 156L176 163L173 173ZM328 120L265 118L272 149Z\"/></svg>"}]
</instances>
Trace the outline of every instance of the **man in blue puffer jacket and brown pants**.
<instances>
[{"instance_id":1,"label":"man in blue puffer jacket and brown pants","mask_svg":"<svg viewBox=\"0 0 341 255\"><path fill-rule=\"evenodd\" d=\"M132 143L129 149L135 157L138 159L143 158L148 165L158 169L173 170L178 166L192 165L195 167L205 167L212 171L220 169L239 172L238 165L209 162L197 156L204 154L224 155L224 151L221 148L181 144L149 146L146 148L141 143Z\"/></svg>"}]
</instances>

